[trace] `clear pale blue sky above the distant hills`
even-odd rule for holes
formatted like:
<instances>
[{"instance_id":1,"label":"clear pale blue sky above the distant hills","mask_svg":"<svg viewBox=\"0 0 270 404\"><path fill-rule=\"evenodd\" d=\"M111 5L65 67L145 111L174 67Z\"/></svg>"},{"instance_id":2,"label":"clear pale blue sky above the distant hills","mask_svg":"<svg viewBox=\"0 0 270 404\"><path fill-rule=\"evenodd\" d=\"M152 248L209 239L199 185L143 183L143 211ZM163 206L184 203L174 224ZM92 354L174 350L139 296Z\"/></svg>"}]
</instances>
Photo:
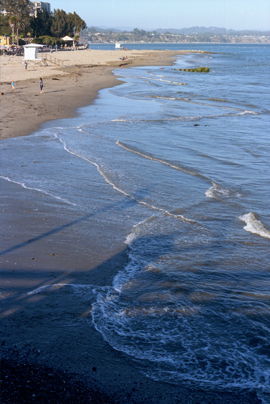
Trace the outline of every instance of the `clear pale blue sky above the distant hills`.
<instances>
[{"instance_id":1,"label":"clear pale blue sky above the distant hills","mask_svg":"<svg viewBox=\"0 0 270 404\"><path fill-rule=\"evenodd\" d=\"M47 0L88 27L270 29L270 0Z\"/></svg>"}]
</instances>

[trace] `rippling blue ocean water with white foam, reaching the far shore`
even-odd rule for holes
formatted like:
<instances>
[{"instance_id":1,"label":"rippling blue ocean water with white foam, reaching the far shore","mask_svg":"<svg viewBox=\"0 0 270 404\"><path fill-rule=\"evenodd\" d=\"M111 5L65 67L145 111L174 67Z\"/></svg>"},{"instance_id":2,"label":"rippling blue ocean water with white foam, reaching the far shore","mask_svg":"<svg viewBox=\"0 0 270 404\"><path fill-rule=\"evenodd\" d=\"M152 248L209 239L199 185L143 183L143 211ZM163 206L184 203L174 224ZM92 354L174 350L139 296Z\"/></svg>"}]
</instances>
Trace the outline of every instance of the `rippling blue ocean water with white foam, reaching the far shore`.
<instances>
[{"instance_id":1,"label":"rippling blue ocean water with white foam, reaching the far shore","mask_svg":"<svg viewBox=\"0 0 270 404\"><path fill-rule=\"evenodd\" d=\"M146 376L269 402L269 45L141 46L212 53L116 69L76 119L3 141L1 180L125 243L91 321Z\"/></svg>"}]
</instances>

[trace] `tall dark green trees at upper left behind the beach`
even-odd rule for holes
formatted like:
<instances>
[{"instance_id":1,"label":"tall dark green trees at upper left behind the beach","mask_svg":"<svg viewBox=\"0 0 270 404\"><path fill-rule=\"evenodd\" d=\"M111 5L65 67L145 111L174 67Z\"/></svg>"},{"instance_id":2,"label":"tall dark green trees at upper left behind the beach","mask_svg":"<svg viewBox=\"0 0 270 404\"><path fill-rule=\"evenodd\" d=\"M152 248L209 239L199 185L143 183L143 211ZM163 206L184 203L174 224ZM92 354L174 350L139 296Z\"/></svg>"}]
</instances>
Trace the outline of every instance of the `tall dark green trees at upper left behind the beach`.
<instances>
[{"instance_id":1,"label":"tall dark green trees at upper left behind the beach","mask_svg":"<svg viewBox=\"0 0 270 404\"><path fill-rule=\"evenodd\" d=\"M79 39L79 33L86 28L85 22L78 14L66 13L64 10L48 11L37 10L36 17L30 16L29 0L3 0L1 9L8 15L1 15L0 35L12 36L16 32L17 45L20 37L50 37L55 43L63 36L74 36Z\"/></svg>"}]
</instances>

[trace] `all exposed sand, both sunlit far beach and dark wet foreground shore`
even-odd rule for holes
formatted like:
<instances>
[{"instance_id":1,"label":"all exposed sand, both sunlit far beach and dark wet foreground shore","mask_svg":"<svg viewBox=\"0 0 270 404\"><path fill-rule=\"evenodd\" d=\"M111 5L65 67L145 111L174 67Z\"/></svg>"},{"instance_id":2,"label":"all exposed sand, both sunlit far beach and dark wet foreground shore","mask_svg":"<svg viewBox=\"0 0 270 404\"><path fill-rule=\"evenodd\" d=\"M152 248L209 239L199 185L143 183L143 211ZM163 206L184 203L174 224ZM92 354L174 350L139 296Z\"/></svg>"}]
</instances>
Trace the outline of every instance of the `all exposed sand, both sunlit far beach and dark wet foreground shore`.
<instances>
[{"instance_id":1,"label":"all exposed sand, both sunlit far beach and dark wet foreground shore","mask_svg":"<svg viewBox=\"0 0 270 404\"><path fill-rule=\"evenodd\" d=\"M95 101L100 89L121 83L112 73L116 67L162 67L171 65L175 55L181 54L147 50L122 53L127 56L124 63L119 60L119 51L58 52L53 57L62 59L64 67L29 65L27 72L22 58L1 56L1 139L28 135L50 120L75 117L78 108ZM44 83L42 94L39 77ZM21 188L3 180L2 195L3 404L260 402L249 391L194 390L154 381L138 372L136 361L114 350L94 328L93 294L89 293L82 310L74 293L64 298L50 286L111 285L127 262L126 244L105 249L91 237L83 238L79 227L83 218L74 214L63 223L61 203L52 214L47 208L49 196L43 196L44 210L38 212L34 191L29 206L21 197ZM87 220L94 232L94 219ZM42 234L35 233L37 223L43 228ZM44 286L48 288L42 293L27 294ZM67 322L67 318L71 320Z\"/></svg>"}]
</instances>

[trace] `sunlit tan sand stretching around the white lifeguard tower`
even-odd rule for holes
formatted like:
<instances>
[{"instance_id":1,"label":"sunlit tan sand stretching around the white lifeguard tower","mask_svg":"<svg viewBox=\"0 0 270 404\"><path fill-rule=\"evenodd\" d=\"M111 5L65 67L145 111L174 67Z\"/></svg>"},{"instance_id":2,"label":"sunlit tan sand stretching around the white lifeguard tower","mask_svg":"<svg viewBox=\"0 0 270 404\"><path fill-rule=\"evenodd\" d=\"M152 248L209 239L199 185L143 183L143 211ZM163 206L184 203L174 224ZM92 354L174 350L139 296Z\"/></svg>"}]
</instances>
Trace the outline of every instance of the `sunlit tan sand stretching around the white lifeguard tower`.
<instances>
[{"instance_id":1,"label":"sunlit tan sand stretching around the white lifeguard tower","mask_svg":"<svg viewBox=\"0 0 270 404\"><path fill-rule=\"evenodd\" d=\"M179 54L182 52L179 51ZM27 71L23 58L1 56L0 91L1 131L0 138L25 136L50 120L74 117L76 109L90 105L102 88L120 81L112 73L114 68L146 65L170 65L172 51L59 51L47 55L63 67L33 66ZM41 54L44 57L45 54ZM127 61L119 58L125 56ZM44 93L39 91L39 77L43 79ZM15 89L11 83L14 81ZM41 98L42 97L42 98Z\"/></svg>"}]
</instances>

